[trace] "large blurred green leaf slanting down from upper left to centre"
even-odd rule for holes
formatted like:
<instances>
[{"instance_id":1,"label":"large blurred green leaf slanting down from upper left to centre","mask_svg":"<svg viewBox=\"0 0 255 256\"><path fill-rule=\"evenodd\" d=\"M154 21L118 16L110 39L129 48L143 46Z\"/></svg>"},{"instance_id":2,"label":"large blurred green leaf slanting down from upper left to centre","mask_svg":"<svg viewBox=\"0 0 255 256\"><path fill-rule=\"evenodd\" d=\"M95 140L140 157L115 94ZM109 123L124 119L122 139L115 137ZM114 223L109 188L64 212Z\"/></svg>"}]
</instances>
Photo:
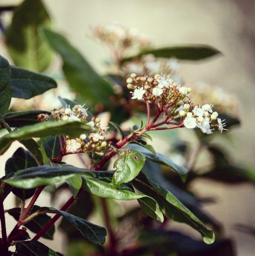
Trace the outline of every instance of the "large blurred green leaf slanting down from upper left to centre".
<instances>
[{"instance_id":1,"label":"large blurred green leaf slanting down from upper left to centre","mask_svg":"<svg viewBox=\"0 0 255 256\"><path fill-rule=\"evenodd\" d=\"M63 72L71 88L84 100L110 106L109 97L113 95L111 85L93 70L64 36L49 29L44 29L44 33L51 47L62 57Z\"/></svg>"}]
</instances>

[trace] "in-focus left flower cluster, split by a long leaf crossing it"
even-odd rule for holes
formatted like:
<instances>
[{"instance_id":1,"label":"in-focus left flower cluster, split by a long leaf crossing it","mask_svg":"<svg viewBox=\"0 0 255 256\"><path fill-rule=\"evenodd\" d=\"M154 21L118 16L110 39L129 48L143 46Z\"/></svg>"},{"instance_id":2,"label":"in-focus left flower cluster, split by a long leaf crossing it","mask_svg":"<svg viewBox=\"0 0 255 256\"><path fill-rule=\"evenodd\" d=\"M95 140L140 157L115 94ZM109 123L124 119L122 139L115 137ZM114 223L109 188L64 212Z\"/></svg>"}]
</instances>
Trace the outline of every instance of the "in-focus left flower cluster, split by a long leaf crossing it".
<instances>
[{"instance_id":1,"label":"in-focus left flower cluster, split by a long leaf crossing it","mask_svg":"<svg viewBox=\"0 0 255 256\"><path fill-rule=\"evenodd\" d=\"M51 112L51 117L56 121L79 121L95 128L95 132L81 134L79 138L71 139L69 136L65 140L66 153L82 153L82 152L95 152L98 155L104 155L104 151L109 150L109 145L105 141L104 134L109 127L105 127L100 123L99 118L92 117L88 121L87 109L81 105L75 105L73 108L67 106L60 110L54 109ZM39 121L49 120L49 115L38 115Z\"/></svg>"}]
</instances>

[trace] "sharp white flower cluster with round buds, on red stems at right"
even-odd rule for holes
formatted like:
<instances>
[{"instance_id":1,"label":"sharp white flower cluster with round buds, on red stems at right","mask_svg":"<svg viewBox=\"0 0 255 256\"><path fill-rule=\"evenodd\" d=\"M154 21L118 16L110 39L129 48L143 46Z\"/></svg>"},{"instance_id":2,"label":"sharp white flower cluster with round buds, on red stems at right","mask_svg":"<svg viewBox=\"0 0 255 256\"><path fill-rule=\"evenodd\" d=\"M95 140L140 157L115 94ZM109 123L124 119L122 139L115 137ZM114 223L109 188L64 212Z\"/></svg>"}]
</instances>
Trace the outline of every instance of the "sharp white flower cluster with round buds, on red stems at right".
<instances>
[{"instance_id":1,"label":"sharp white flower cluster with round buds, on red stems at right","mask_svg":"<svg viewBox=\"0 0 255 256\"><path fill-rule=\"evenodd\" d=\"M220 132L226 130L226 124L218 118L216 111L213 112L212 104L194 106L190 99L192 89L179 85L169 76L156 74L154 77L137 77L131 74L126 83L127 88L134 90L131 99L153 103L157 110L164 112L168 121L180 119L180 124L186 128L200 128L206 134L212 134L212 127L215 126Z\"/></svg>"}]
</instances>

